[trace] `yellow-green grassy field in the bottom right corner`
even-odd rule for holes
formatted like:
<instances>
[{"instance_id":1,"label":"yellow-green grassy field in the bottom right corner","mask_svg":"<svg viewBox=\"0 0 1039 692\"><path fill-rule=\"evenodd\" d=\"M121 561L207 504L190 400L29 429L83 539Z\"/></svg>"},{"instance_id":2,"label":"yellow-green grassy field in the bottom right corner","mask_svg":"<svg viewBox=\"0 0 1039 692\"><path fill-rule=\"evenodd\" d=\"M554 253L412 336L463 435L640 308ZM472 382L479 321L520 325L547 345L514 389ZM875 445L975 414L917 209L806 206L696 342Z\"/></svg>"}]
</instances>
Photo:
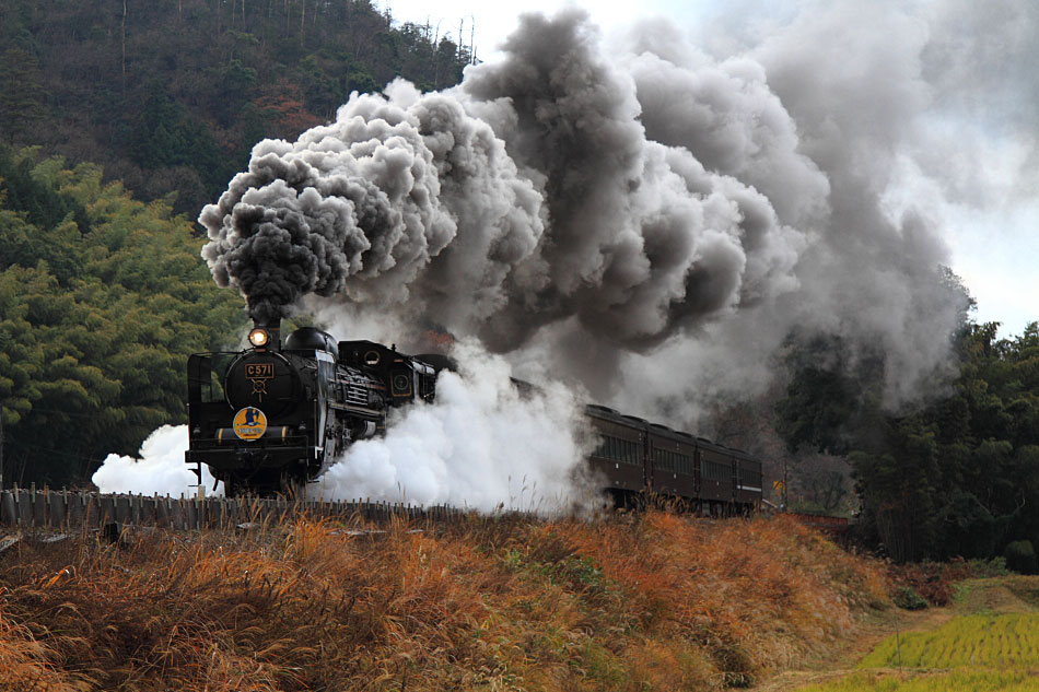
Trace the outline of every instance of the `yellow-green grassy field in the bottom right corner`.
<instances>
[{"instance_id":1,"label":"yellow-green grassy field in the bottom right corner","mask_svg":"<svg viewBox=\"0 0 1039 692\"><path fill-rule=\"evenodd\" d=\"M970 579L931 626L884 640L859 671L801 692L1039 690L1039 577Z\"/></svg>"}]
</instances>

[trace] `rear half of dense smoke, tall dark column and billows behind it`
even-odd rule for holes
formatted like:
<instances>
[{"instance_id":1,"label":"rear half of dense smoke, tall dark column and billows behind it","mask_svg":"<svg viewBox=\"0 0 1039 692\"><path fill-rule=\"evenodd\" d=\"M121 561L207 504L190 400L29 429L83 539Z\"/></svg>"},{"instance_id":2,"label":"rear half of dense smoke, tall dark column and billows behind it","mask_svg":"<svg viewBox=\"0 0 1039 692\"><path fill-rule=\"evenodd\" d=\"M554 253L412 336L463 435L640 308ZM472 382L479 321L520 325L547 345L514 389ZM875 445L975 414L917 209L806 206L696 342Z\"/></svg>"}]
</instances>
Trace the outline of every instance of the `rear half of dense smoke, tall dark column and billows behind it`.
<instances>
[{"instance_id":1,"label":"rear half of dense smoke, tall dark column and billows behind it","mask_svg":"<svg viewBox=\"0 0 1039 692\"><path fill-rule=\"evenodd\" d=\"M460 91L521 169L544 176L549 283L513 283L490 343L574 317L641 349L796 285L803 234L752 188L649 138L631 72L602 57L581 13L527 16L505 48Z\"/></svg>"}]
</instances>

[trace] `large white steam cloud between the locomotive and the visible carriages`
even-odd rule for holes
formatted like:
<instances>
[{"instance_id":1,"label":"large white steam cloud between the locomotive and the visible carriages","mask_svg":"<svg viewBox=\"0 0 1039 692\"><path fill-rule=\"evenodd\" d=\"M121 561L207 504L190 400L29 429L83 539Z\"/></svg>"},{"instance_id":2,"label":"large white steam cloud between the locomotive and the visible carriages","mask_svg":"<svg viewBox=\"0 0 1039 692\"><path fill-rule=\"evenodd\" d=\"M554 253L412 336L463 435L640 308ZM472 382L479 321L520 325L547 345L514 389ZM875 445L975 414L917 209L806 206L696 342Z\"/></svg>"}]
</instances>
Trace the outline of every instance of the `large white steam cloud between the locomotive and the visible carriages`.
<instances>
[{"instance_id":1,"label":"large white steam cloud between the locomotive and the visible carriages","mask_svg":"<svg viewBox=\"0 0 1039 692\"><path fill-rule=\"evenodd\" d=\"M456 348L436 400L395 411L385 437L349 447L308 495L549 514L587 506L584 419L559 385L522 391L499 356ZM524 387L524 389L527 389ZM593 486L588 486L589 489Z\"/></svg>"}]
</instances>

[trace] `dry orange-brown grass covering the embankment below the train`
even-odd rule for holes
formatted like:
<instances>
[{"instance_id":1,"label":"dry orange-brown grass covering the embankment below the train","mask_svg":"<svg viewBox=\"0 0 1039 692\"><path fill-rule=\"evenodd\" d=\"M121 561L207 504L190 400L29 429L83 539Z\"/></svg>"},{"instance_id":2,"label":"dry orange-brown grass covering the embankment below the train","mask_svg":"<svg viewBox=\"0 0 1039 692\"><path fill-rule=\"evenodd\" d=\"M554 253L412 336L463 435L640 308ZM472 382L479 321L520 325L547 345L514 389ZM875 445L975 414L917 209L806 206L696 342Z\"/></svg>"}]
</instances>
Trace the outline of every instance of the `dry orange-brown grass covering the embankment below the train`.
<instances>
[{"instance_id":1,"label":"dry orange-brown grass covering the embankment below the train","mask_svg":"<svg viewBox=\"0 0 1039 692\"><path fill-rule=\"evenodd\" d=\"M738 687L885 607L883 567L793 521L470 517L0 555L0 690Z\"/></svg>"}]
</instances>

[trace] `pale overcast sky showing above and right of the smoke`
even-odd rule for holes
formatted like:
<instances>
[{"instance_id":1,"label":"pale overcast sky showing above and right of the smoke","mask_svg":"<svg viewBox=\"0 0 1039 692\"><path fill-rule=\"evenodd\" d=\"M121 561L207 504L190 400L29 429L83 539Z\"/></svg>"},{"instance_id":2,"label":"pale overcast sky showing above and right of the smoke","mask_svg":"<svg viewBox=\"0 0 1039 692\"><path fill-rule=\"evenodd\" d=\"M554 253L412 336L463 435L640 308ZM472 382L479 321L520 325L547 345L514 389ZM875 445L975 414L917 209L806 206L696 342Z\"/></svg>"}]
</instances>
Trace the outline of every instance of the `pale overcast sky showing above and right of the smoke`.
<instances>
[{"instance_id":1,"label":"pale overcast sky showing above and right of the smoke","mask_svg":"<svg viewBox=\"0 0 1039 692\"><path fill-rule=\"evenodd\" d=\"M1020 0L1029 3L1032 0ZM1013 0L1011 0L1013 2ZM643 17L663 16L680 26L705 50L724 52L727 48L738 51L743 37L721 36L712 32L712 46L703 46L703 39L696 37L704 34L708 23L717 22L722 10L727 10L724 20L726 27L735 27L738 34L743 22L757 20L756 31L761 34L761 25L768 22L782 25L784 19L796 12L794 2L767 2L757 7L767 7L770 16L762 17L760 12L746 12L746 17L733 11L734 5L745 10L750 2L721 3L714 0L640 0L639 2L563 2L561 0L524 0L518 3L492 3L486 0L381 0L378 7L389 8L397 21L412 21L440 25L440 33L457 36L459 22L464 21L463 40L469 43L474 31L477 55L481 60L493 60L495 47L510 34L521 12L553 11L569 7L586 8L602 27L604 37L624 31L627 25ZM805 4L805 3L799 3ZM906 7L926 8L929 2L904 2ZM715 26L716 24L712 24ZM767 28L764 30L768 31ZM968 33L981 33L984 27L965 27ZM1035 45L1035 42L1029 42ZM1027 50L1027 49L1026 49ZM1039 66L1039 55L1034 55L1031 64ZM965 75L964 79L968 79ZM1039 91L1035 84L1023 89L1023 93ZM1020 104L1016 104L1019 107ZM953 270L966 282L971 294L978 301L978 321L1001 321L1003 336L1020 333L1025 325L1039 319L1039 188L1029 185L1022 191L1022 175L1029 174L1029 180L1036 183L1036 142L1037 129L1029 131L1009 131L1000 127L1000 103L987 104L983 112L985 122L971 121L962 112L949 117L948 112L936 114L936 129L962 128L970 131L976 145L980 142L978 165L980 175L988 180L984 200L977 199L959 203L955 195L942 193L941 184L922 173L912 161L907 161L906 169L896 176L897 186L889 190L892 213L908 206L921 208L943 228L943 237L950 250ZM1036 105L1030 108L1036 112ZM972 110L972 114L979 113ZM1037 116L1039 118L1039 116ZM1035 120L1039 122L1039 119ZM1037 125L1039 128L1039 125ZM980 136L979 136L980 133ZM935 153L941 156L941 152ZM1028 160L1028 156L1031 156Z\"/></svg>"}]
</instances>

